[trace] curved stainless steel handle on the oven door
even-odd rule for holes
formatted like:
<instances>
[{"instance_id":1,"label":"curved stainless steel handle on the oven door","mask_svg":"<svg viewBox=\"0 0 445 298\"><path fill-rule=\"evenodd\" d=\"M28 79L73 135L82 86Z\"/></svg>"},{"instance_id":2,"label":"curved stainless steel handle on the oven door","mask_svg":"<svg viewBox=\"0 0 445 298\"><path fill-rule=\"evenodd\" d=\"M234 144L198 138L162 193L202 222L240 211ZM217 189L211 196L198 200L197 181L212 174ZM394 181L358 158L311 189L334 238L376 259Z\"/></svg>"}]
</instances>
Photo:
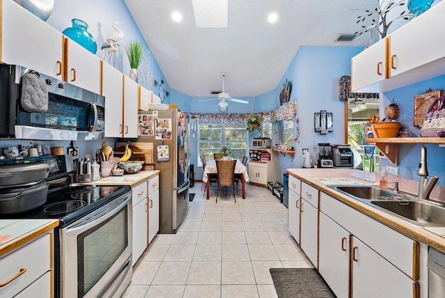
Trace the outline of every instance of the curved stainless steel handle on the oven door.
<instances>
[{"instance_id":1,"label":"curved stainless steel handle on the oven door","mask_svg":"<svg viewBox=\"0 0 445 298\"><path fill-rule=\"evenodd\" d=\"M122 208L131 201L131 193L122 196L118 202L114 203L113 205L110 205L106 207L105 210L102 210L98 212L97 214L92 214L92 217L86 219L85 221L81 221L81 223L76 224L72 227L68 227L66 234L69 236L72 235L79 235L86 230L89 230L90 228L93 228L94 226L97 226L100 222L106 221L106 219L109 219L110 217L113 217L114 214L118 213ZM101 207L102 208L102 207ZM99 208L99 210L101 209ZM100 222L97 222L97 220L100 219Z\"/></svg>"}]
</instances>

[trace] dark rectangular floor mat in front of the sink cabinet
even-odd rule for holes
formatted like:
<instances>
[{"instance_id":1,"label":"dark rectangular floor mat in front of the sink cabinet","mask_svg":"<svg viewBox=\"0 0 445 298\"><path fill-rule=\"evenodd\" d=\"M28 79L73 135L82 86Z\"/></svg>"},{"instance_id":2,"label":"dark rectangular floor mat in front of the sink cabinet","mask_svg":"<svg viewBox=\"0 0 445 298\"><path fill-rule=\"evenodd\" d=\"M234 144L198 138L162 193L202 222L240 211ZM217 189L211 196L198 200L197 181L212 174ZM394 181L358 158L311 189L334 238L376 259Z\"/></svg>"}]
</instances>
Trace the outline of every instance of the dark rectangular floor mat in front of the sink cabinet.
<instances>
[{"instance_id":1,"label":"dark rectangular floor mat in front of the sink cabinet","mask_svg":"<svg viewBox=\"0 0 445 298\"><path fill-rule=\"evenodd\" d=\"M278 298L335 297L314 268L270 268Z\"/></svg>"}]
</instances>

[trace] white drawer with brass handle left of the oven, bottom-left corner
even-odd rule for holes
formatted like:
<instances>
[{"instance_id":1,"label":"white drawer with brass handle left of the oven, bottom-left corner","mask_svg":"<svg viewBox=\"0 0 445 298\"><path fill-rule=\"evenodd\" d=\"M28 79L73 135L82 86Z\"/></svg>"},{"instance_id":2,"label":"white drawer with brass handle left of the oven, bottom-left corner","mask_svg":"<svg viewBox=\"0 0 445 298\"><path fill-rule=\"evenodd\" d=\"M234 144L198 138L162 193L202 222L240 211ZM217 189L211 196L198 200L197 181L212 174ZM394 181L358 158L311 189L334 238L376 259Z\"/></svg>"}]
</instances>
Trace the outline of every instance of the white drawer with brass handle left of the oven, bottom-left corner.
<instances>
[{"instance_id":1,"label":"white drawer with brass handle left of the oven, bottom-left corner","mask_svg":"<svg viewBox=\"0 0 445 298\"><path fill-rule=\"evenodd\" d=\"M5 283L17 276L0 288L0 297L17 295L51 269L51 240L50 234L46 234L0 260L0 283ZM24 273L19 275L21 271ZM35 294L34 297L42 297Z\"/></svg>"}]
</instances>

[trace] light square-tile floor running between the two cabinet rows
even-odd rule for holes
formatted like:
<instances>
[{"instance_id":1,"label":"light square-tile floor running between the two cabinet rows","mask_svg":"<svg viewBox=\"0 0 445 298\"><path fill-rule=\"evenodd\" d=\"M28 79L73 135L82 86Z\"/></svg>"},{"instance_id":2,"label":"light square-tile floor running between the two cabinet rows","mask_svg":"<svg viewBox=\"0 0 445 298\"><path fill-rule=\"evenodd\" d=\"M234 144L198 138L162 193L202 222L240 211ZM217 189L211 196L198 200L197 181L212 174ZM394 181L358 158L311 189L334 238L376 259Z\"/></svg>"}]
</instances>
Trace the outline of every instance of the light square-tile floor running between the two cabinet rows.
<instances>
[{"instance_id":1,"label":"light square-tile floor running between the two cabinet rows","mask_svg":"<svg viewBox=\"0 0 445 298\"><path fill-rule=\"evenodd\" d=\"M277 297L270 268L312 267L287 230L287 208L269 189L232 187L216 203L201 183L177 234L158 234L122 297Z\"/></svg>"}]
</instances>

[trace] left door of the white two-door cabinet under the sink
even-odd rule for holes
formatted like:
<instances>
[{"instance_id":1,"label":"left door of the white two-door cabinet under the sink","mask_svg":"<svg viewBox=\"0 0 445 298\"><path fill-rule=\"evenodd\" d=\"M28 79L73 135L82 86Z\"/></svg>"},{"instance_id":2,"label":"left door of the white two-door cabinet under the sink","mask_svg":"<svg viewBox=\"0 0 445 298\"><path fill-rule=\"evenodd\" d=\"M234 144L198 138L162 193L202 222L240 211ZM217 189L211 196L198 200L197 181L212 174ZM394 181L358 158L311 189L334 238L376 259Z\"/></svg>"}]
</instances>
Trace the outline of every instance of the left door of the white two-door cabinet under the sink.
<instances>
[{"instance_id":1,"label":"left door of the white two-door cabinet under the sink","mask_svg":"<svg viewBox=\"0 0 445 298\"><path fill-rule=\"evenodd\" d=\"M318 271L337 297L349 292L349 233L320 212Z\"/></svg>"}]
</instances>

